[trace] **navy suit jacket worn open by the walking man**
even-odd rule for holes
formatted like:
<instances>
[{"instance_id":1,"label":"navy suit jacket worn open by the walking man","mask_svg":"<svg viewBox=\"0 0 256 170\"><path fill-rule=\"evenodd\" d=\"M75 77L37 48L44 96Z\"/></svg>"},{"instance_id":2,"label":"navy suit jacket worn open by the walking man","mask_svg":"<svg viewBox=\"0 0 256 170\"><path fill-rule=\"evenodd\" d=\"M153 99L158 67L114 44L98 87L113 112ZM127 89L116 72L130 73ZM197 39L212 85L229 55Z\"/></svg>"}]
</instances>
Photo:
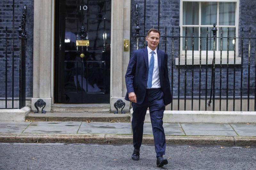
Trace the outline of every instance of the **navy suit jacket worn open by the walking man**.
<instances>
[{"instance_id":1,"label":"navy suit jacket worn open by the walking man","mask_svg":"<svg viewBox=\"0 0 256 170\"><path fill-rule=\"evenodd\" d=\"M168 77L167 68L168 55L157 50L158 68L161 89L164 92L164 105L172 102L172 92ZM137 104L144 101L148 83L148 49L143 48L133 51L125 74L125 84L127 93L125 100L129 100L128 93L135 92Z\"/></svg>"}]
</instances>

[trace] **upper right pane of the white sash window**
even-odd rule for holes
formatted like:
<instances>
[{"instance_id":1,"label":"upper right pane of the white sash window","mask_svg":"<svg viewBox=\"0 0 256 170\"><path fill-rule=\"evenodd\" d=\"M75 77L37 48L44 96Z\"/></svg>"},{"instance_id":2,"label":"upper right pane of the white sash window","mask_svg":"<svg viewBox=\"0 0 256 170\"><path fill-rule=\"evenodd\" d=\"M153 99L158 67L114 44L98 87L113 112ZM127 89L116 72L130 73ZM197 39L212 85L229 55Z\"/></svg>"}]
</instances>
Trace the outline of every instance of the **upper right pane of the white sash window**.
<instances>
[{"instance_id":1,"label":"upper right pane of the white sash window","mask_svg":"<svg viewBox=\"0 0 256 170\"><path fill-rule=\"evenodd\" d=\"M236 3L220 2L220 19L221 26L234 26L236 20Z\"/></svg>"}]
</instances>

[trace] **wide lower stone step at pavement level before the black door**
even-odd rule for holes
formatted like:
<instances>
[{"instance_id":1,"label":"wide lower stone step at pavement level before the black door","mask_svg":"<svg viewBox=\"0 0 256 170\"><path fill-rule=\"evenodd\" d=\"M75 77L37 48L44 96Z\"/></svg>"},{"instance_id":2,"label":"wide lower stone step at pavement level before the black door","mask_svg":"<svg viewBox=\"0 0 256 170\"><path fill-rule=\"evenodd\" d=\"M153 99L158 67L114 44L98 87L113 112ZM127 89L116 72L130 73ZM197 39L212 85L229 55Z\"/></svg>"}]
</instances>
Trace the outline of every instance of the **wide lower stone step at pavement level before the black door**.
<instances>
[{"instance_id":1,"label":"wide lower stone step at pavement level before the black door","mask_svg":"<svg viewBox=\"0 0 256 170\"><path fill-rule=\"evenodd\" d=\"M77 122L130 122L130 114L114 114L108 112L46 112L26 116L27 121L77 121Z\"/></svg>"}]
</instances>

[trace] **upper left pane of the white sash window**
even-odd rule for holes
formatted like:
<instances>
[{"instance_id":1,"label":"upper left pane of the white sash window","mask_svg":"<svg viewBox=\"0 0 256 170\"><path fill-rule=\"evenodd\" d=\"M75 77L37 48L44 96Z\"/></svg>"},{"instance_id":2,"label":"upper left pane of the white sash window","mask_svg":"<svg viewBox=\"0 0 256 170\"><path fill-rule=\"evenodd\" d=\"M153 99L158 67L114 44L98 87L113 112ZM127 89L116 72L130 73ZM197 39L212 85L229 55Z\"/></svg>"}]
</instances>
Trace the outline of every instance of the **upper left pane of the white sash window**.
<instances>
[{"instance_id":1,"label":"upper left pane of the white sash window","mask_svg":"<svg viewBox=\"0 0 256 170\"><path fill-rule=\"evenodd\" d=\"M183 25L199 25L198 2L183 2Z\"/></svg>"}]
</instances>

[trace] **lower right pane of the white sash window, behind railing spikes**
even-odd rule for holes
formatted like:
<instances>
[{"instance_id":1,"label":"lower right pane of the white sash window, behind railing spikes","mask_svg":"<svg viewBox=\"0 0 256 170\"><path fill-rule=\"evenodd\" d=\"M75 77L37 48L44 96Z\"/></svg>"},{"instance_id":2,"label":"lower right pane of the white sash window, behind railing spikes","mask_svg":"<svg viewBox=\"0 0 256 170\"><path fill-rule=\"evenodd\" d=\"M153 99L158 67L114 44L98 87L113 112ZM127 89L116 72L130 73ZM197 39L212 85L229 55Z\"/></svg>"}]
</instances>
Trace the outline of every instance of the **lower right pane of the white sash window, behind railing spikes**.
<instances>
[{"instance_id":1,"label":"lower right pane of the white sash window, behind railing spikes","mask_svg":"<svg viewBox=\"0 0 256 170\"><path fill-rule=\"evenodd\" d=\"M223 34L222 37L228 37L228 28L222 28ZM220 29L221 31L221 29ZM226 51L227 50L227 42L229 42L229 51L234 50L234 36L235 36L235 28L229 28L229 39L223 38L222 39L222 50ZM219 32L219 37L220 37L220 32ZM228 40L228 41L227 41ZM219 38L219 50L220 50L220 38Z\"/></svg>"}]
</instances>

